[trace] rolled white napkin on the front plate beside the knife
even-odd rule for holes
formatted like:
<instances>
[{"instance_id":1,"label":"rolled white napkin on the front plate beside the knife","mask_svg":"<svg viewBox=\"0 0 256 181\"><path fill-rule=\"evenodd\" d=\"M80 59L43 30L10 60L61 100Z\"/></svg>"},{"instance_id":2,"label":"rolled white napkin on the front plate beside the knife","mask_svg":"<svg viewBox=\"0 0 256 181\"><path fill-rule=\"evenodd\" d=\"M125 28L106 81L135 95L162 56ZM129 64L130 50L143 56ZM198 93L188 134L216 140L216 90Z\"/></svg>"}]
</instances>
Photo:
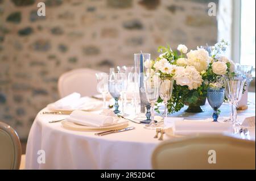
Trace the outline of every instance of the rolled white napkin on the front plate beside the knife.
<instances>
[{"instance_id":1,"label":"rolled white napkin on the front plate beside the knife","mask_svg":"<svg viewBox=\"0 0 256 181\"><path fill-rule=\"evenodd\" d=\"M119 119L118 117L76 110L66 120L76 124L100 128L117 124Z\"/></svg>"}]
</instances>

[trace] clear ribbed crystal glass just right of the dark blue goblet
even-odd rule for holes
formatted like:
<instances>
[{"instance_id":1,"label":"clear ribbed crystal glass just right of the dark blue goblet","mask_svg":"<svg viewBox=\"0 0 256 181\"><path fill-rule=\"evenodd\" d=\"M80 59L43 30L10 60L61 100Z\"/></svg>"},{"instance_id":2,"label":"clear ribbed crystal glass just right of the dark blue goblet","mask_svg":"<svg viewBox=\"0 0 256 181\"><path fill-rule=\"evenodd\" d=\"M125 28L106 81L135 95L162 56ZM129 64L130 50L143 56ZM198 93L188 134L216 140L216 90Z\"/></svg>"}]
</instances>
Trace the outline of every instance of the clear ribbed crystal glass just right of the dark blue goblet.
<instances>
[{"instance_id":1,"label":"clear ribbed crystal glass just right of the dark blue goblet","mask_svg":"<svg viewBox=\"0 0 256 181\"><path fill-rule=\"evenodd\" d=\"M237 120L237 104L241 100L243 87L246 82L245 75L226 75L224 76L226 81L226 87L228 87L228 99L232 103L232 121L233 125L240 125Z\"/></svg>"}]
</instances>

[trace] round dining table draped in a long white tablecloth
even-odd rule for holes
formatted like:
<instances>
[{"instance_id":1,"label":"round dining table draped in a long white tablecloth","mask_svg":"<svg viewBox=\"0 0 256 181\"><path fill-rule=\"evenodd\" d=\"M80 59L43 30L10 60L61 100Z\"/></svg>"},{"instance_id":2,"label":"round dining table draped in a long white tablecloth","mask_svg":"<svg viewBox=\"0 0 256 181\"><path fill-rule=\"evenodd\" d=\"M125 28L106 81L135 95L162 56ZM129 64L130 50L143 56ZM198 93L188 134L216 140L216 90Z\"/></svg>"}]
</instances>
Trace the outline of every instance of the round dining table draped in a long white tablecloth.
<instances>
[{"instance_id":1,"label":"round dining table draped in a long white tablecloth","mask_svg":"<svg viewBox=\"0 0 256 181\"><path fill-rule=\"evenodd\" d=\"M255 100L255 93L249 98ZM203 113L187 113L184 107L170 117L185 119L207 119L213 110L208 103ZM220 116L229 116L229 104L222 104ZM93 131L72 131L65 129L61 122L68 115L38 113L32 124L26 149L26 169L152 169L151 155L161 142L155 136L155 130L145 129L143 124L129 122L134 130L96 136ZM160 110L162 111L162 110ZM247 110L238 111L240 117L255 116L255 103ZM221 123L220 123L221 124ZM255 128L250 130L255 140ZM163 140L175 139L164 134Z\"/></svg>"}]
</instances>

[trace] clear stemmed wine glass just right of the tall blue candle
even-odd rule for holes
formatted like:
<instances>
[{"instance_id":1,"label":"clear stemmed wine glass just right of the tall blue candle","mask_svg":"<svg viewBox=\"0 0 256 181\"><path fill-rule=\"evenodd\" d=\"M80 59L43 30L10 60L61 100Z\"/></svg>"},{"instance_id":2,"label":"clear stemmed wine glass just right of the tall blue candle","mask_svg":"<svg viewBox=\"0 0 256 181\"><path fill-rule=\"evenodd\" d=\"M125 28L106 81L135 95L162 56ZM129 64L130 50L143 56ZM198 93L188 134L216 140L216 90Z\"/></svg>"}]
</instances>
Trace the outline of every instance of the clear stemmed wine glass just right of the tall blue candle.
<instances>
[{"instance_id":1,"label":"clear stemmed wine glass just right of the tall blue candle","mask_svg":"<svg viewBox=\"0 0 256 181\"><path fill-rule=\"evenodd\" d=\"M151 104L151 123L147 124L145 128L148 129L155 129L158 127L158 124L155 123L154 120L154 105L155 102L159 98L159 86L160 86L160 79L158 74L149 75L144 77L144 86L145 86L145 93L148 102Z\"/></svg>"}]
</instances>

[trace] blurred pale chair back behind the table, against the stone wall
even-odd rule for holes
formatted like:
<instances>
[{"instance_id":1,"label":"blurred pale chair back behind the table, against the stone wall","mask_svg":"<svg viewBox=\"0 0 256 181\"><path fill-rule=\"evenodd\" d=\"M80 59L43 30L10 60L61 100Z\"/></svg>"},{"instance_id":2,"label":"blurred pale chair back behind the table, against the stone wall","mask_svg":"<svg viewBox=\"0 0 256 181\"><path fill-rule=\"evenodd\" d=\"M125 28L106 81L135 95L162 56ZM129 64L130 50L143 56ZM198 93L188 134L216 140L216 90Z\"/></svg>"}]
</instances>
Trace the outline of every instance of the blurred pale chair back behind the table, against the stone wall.
<instances>
[{"instance_id":1,"label":"blurred pale chair back behind the table, against the stone wall","mask_svg":"<svg viewBox=\"0 0 256 181\"><path fill-rule=\"evenodd\" d=\"M81 96L98 94L95 75L98 72L92 69L75 69L62 74L58 81L60 97L63 98L73 92L78 92Z\"/></svg>"}]
</instances>

